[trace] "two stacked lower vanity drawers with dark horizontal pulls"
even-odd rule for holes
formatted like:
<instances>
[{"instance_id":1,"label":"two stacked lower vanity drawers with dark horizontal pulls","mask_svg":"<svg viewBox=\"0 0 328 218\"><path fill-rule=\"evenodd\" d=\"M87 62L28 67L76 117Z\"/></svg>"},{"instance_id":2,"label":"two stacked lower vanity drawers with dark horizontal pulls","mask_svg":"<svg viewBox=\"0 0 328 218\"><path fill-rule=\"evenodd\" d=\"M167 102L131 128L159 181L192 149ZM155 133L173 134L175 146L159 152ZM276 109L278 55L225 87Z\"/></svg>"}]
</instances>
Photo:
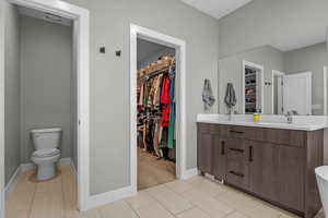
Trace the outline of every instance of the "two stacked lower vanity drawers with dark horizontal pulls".
<instances>
[{"instance_id":1,"label":"two stacked lower vanity drawers with dark horizontal pulls","mask_svg":"<svg viewBox=\"0 0 328 218\"><path fill-rule=\"evenodd\" d=\"M229 138L226 145L226 182L248 190L248 141Z\"/></svg>"}]
</instances>

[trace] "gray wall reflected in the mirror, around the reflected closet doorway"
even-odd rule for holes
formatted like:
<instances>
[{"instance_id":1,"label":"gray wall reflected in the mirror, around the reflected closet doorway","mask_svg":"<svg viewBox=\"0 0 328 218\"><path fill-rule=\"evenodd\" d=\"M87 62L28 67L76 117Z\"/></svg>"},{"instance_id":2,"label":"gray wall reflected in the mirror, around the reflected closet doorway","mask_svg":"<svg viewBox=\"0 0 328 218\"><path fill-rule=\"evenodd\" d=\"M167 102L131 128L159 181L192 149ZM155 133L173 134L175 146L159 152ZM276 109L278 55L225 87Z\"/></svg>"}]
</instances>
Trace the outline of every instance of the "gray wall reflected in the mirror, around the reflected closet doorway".
<instances>
[{"instance_id":1,"label":"gray wall reflected in the mirror, around the reflected closet doorway","mask_svg":"<svg viewBox=\"0 0 328 218\"><path fill-rule=\"evenodd\" d=\"M236 92L237 104L235 110L243 112L243 61L249 61L265 68L265 82L271 82L272 70L283 71L283 52L271 46L262 46L245 52L223 58L219 61L219 112L226 113L224 95L227 83L233 83ZM271 113L272 102L271 86L265 86L265 113ZM269 99L269 100L268 100Z\"/></svg>"}]
</instances>

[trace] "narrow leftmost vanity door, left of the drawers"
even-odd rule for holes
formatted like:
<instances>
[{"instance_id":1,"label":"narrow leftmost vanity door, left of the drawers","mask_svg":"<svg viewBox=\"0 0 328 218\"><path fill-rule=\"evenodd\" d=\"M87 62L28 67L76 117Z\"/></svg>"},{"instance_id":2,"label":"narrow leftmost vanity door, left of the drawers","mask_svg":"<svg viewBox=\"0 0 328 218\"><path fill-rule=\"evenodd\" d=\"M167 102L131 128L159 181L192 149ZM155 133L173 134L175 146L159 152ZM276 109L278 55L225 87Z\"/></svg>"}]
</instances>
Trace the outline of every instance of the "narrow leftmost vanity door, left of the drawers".
<instances>
[{"instance_id":1,"label":"narrow leftmost vanity door, left of the drawers","mask_svg":"<svg viewBox=\"0 0 328 218\"><path fill-rule=\"evenodd\" d=\"M215 179L225 180L226 171L226 140L213 135L213 175Z\"/></svg>"}]
</instances>

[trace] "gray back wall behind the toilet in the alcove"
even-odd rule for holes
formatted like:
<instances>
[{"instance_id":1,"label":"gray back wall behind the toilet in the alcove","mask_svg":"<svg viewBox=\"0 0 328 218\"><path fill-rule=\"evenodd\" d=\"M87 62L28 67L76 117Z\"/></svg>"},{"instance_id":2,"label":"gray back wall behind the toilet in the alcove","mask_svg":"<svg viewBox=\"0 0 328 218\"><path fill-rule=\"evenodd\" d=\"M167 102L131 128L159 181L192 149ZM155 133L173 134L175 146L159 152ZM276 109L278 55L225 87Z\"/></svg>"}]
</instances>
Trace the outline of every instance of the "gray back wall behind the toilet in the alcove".
<instances>
[{"instance_id":1,"label":"gray back wall behind the toilet in the alcove","mask_svg":"<svg viewBox=\"0 0 328 218\"><path fill-rule=\"evenodd\" d=\"M71 153L72 29L22 16L22 162L31 162L32 129L63 130L62 157Z\"/></svg>"}]
</instances>

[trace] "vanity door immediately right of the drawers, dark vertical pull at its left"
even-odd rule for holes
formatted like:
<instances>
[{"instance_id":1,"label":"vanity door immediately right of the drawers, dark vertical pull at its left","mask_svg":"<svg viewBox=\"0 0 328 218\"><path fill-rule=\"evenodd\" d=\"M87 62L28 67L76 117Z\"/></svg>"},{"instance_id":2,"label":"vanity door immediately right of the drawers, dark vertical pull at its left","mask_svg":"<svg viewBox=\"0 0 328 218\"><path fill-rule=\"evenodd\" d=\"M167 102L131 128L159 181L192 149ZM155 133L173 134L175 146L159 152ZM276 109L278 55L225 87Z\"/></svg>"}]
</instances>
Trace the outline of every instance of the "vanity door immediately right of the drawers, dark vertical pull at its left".
<instances>
[{"instance_id":1,"label":"vanity door immediately right of the drawers, dark vertical pull at its left","mask_svg":"<svg viewBox=\"0 0 328 218\"><path fill-rule=\"evenodd\" d=\"M257 195L276 201L276 146L250 141L248 145L249 189Z\"/></svg>"}]
</instances>

